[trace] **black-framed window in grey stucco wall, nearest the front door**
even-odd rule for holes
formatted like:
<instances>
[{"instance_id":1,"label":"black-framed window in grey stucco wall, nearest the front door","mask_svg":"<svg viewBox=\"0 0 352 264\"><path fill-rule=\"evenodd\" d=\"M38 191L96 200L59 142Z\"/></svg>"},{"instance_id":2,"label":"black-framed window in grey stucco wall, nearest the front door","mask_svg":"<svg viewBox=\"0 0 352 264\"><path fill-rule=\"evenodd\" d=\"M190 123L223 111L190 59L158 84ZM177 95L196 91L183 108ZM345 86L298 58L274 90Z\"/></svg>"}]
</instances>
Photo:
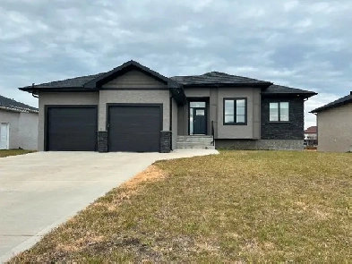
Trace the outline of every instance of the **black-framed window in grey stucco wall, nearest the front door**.
<instances>
[{"instance_id":1,"label":"black-framed window in grey stucco wall, nearest the front door","mask_svg":"<svg viewBox=\"0 0 352 264\"><path fill-rule=\"evenodd\" d=\"M247 124L247 98L224 98L224 124Z\"/></svg>"}]
</instances>

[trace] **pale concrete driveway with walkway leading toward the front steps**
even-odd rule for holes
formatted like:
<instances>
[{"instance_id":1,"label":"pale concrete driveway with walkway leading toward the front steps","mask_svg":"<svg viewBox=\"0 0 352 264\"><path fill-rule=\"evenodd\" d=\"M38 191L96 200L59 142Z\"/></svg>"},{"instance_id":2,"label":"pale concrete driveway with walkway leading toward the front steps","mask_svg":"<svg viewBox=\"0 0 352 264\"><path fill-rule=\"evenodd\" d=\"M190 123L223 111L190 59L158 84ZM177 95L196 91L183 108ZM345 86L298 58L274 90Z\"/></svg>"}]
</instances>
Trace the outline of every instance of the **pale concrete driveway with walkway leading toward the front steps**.
<instances>
[{"instance_id":1,"label":"pale concrete driveway with walkway leading toward the front steps","mask_svg":"<svg viewBox=\"0 0 352 264\"><path fill-rule=\"evenodd\" d=\"M39 152L0 158L0 262L159 159L217 154Z\"/></svg>"}]
</instances>

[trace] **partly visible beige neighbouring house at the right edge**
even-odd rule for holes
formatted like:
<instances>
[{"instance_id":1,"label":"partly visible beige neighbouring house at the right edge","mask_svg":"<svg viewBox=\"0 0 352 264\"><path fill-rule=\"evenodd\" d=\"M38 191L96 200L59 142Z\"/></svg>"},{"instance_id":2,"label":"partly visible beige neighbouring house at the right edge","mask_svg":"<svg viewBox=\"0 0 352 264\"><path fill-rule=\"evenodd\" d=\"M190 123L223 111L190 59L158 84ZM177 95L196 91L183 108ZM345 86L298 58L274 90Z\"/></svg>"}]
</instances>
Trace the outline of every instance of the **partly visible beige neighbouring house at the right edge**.
<instances>
[{"instance_id":1,"label":"partly visible beige neighbouring house at the right edge","mask_svg":"<svg viewBox=\"0 0 352 264\"><path fill-rule=\"evenodd\" d=\"M318 151L352 152L352 91L311 113L317 115Z\"/></svg>"}]
</instances>

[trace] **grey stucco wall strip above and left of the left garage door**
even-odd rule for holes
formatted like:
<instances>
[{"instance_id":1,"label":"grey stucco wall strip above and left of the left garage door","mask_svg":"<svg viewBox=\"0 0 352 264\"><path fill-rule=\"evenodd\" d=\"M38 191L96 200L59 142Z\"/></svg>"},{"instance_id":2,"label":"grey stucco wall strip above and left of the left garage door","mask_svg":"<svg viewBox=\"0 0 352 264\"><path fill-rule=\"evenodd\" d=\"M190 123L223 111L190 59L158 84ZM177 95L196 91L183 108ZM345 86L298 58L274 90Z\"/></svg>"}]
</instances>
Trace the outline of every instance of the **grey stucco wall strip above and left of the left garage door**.
<instances>
[{"instance_id":1,"label":"grey stucco wall strip above and left of the left garage door","mask_svg":"<svg viewBox=\"0 0 352 264\"><path fill-rule=\"evenodd\" d=\"M45 106L99 105L99 92L39 92L38 150L44 151Z\"/></svg>"}]
</instances>

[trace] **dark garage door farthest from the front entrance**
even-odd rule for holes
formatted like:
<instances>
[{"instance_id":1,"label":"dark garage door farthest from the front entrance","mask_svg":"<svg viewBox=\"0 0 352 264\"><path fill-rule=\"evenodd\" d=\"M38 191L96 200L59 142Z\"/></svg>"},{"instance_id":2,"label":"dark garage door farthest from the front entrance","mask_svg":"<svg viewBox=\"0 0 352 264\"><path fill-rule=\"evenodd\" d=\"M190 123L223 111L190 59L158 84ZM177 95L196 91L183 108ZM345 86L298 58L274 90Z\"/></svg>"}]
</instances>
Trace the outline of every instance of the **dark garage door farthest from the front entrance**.
<instances>
[{"instance_id":1,"label":"dark garage door farthest from the front entrance","mask_svg":"<svg viewBox=\"0 0 352 264\"><path fill-rule=\"evenodd\" d=\"M95 151L97 106L47 107L47 150Z\"/></svg>"}]
</instances>

